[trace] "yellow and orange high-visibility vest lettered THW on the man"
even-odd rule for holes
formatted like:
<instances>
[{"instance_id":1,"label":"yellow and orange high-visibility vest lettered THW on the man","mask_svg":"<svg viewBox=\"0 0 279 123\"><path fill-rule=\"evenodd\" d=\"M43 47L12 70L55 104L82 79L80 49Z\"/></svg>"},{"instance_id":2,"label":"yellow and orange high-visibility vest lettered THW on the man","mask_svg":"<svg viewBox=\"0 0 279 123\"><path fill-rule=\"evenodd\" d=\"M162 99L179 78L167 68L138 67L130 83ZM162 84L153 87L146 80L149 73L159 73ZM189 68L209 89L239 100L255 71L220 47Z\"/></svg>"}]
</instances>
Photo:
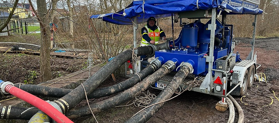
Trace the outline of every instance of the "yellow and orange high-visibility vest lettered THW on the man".
<instances>
[{"instance_id":1,"label":"yellow and orange high-visibility vest lettered THW on the man","mask_svg":"<svg viewBox=\"0 0 279 123\"><path fill-rule=\"evenodd\" d=\"M159 26L157 26L157 27L158 27L157 29L152 31L151 29L149 29L147 27L147 25L145 25L145 28L148 31L147 34L151 40L155 41L155 45L158 44L159 39L160 39L160 28L159 28ZM140 46L146 46L146 45L149 45L149 42L147 42L145 39L142 38L142 42L141 42Z\"/></svg>"}]
</instances>

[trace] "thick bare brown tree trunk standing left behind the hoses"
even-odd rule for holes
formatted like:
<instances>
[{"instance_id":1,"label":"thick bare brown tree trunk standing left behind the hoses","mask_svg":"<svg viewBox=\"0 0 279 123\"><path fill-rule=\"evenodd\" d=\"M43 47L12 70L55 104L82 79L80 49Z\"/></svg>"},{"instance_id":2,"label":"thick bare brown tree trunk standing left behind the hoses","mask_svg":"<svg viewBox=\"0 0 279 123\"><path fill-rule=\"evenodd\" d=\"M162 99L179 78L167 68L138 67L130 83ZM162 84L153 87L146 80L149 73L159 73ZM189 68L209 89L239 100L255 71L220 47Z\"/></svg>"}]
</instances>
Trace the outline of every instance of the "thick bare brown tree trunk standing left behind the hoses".
<instances>
[{"instance_id":1,"label":"thick bare brown tree trunk standing left behind the hoses","mask_svg":"<svg viewBox=\"0 0 279 123\"><path fill-rule=\"evenodd\" d=\"M31 4L31 3L30 3ZM41 27L41 49L40 49L40 70L42 81L51 80L50 71L50 29L49 17L47 17L47 5L45 0L37 0L37 8Z\"/></svg>"}]
</instances>

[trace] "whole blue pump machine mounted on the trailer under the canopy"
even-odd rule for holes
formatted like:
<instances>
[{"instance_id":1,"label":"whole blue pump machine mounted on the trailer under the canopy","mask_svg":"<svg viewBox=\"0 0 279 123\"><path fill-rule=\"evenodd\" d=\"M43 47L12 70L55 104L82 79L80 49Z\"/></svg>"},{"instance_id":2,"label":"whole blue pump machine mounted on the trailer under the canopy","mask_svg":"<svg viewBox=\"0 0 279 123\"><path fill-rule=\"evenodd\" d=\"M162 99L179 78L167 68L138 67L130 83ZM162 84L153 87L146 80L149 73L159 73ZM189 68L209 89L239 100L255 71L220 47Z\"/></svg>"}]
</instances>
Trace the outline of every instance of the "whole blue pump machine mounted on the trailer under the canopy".
<instances>
[{"instance_id":1,"label":"whole blue pump machine mounted on the trailer under the canopy","mask_svg":"<svg viewBox=\"0 0 279 123\"><path fill-rule=\"evenodd\" d=\"M155 57L161 56L165 61L176 58L178 60L176 64L191 60L194 68L193 74L206 75L208 63L205 56L208 54L210 44L209 24L211 24L211 19L206 24L196 20L194 23L183 25L179 37L175 40L175 46L172 41L169 42L172 50L156 51ZM231 29L229 27L224 28L224 25L218 19L216 19L216 26L215 42L216 40L219 42L214 44L214 61L229 53L232 33ZM225 31L224 36L222 35L222 29ZM215 68L215 64L213 64L213 68Z\"/></svg>"}]
</instances>

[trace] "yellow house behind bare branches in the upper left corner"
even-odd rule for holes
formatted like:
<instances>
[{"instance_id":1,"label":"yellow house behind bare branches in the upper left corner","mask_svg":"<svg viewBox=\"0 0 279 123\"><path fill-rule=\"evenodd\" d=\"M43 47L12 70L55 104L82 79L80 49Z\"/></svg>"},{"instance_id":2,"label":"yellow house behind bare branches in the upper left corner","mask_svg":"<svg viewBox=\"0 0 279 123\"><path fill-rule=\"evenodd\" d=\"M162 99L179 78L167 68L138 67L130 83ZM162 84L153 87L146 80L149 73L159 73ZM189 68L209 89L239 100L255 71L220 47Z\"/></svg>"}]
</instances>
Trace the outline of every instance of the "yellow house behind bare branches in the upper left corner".
<instances>
[{"instance_id":1,"label":"yellow house behind bare branches in the upper left corner","mask_svg":"<svg viewBox=\"0 0 279 123\"><path fill-rule=\"evenodd\" d=\"M0 3L0 10L4 12L10 13L12 11L13 3L9 3L7 1L4 1L3 3ZM17 5L15 8L14 15L17 15L20 19L22 18L27 18L28 16L26 15L26 9L23 7L20 7Z\"/></svg>"}]
</instances>

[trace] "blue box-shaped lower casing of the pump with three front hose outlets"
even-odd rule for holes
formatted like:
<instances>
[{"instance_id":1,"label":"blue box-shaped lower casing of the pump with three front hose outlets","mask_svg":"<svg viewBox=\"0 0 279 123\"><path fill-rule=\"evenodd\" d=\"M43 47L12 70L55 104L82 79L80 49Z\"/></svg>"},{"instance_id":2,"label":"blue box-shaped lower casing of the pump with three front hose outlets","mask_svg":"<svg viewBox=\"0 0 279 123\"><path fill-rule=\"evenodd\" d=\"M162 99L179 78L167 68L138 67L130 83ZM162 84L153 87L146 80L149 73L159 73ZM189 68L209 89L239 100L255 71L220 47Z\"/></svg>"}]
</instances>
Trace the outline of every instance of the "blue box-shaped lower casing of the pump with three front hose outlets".
<instances>
[{"instance_id":1,"label":"blue box-shaped lower casing of the pump with three front hose outlets","mask_svg":"<svg viewBox=\"0 0 279 123\"><path fill-rule=\"evenodd\" d=\"M177 51L172 51L172 50L160 50L160 51L155 51L155 57L163 57L164 62L162 64L165 64L168 60L171 60L173 58L176 58L178 61L176 63L176 67L181 63L181 62L186 62L188 60L194 61L194 75L199 75L200 73L205 71L205 58L203 57L205 53L198 53L198 52L181 52L178 53ZM179 70L179 69L178 69Z\"/></svg>"}]
</instances>

